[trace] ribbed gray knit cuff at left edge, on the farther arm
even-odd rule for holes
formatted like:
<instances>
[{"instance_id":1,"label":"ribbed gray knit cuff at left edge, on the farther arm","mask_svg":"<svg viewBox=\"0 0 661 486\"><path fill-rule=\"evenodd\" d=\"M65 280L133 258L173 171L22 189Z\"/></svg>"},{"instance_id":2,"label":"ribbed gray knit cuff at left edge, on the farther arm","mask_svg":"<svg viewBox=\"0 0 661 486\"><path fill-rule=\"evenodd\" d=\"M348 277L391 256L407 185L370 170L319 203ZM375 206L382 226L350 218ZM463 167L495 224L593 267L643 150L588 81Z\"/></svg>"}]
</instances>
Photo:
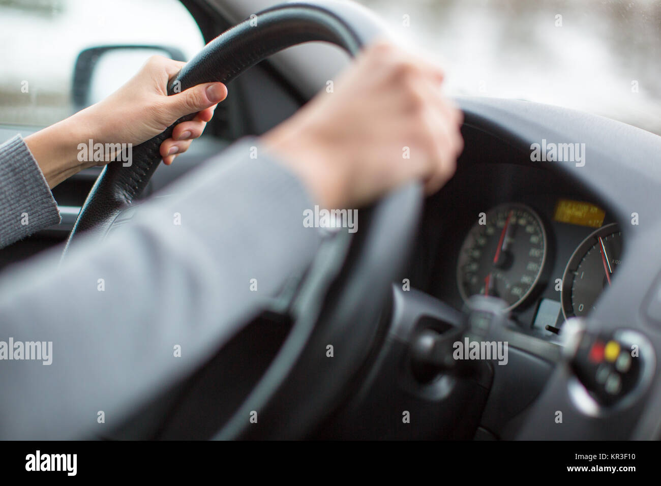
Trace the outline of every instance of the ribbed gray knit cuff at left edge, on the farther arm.
<instances>
[{"instance_id":1,"label":"ribbed gray knit cuff at left edge, on the farther arm","mask_svg":"<svg viewBox=\"0 0 661 486\"><path fill-rule=\"evenodd\" d=\"M17 135L0 145L0 248L57 223L53 194Z\"/></svg>"}]
</instances>

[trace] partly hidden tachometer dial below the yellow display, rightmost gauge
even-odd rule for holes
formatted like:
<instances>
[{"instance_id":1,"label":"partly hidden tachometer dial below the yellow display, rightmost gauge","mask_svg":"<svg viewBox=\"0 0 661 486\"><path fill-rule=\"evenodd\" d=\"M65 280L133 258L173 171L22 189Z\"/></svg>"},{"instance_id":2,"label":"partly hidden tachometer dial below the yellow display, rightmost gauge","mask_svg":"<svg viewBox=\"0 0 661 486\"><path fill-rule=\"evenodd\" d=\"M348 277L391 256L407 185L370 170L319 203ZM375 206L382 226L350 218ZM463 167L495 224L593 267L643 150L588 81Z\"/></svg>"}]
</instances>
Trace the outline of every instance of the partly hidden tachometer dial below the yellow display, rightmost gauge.
<instances>
[{"instance_id":1,"label":"partly hidden tachometer dial below the yellow display, rightmost gauge","mask_svg":"<svg viewBox=\"0 0 661 486\"><path fill-rule=\"evenodd\" d=\"M594 309L602 290L611 284L620 263L622 233L616 223L600 227L578 245L563 275L564 317L581 317Z\"/></svg>"}]
</instances>

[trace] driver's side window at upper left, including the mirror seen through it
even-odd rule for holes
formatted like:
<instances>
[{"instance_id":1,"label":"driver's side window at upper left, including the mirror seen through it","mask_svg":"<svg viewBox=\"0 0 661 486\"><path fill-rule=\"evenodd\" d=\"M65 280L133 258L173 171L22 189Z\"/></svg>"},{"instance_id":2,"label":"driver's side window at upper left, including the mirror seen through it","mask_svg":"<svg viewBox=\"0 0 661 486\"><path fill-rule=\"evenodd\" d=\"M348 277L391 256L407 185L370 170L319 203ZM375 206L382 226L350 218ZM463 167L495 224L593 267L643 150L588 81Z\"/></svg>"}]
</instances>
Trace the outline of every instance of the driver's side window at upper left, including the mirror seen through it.
<instances>
[{"instance_id":1,"label":"driver's side window at upper left, including the mirror seen through it","mask_svg":"<svg viewBox=\"0 0 661 486\"><path fill-rule=\"evenodd\" d=\"M0 125L48 126L149 56L188 60L203 46L178 0L0 0Z\"/></svg>"}]
</instances>

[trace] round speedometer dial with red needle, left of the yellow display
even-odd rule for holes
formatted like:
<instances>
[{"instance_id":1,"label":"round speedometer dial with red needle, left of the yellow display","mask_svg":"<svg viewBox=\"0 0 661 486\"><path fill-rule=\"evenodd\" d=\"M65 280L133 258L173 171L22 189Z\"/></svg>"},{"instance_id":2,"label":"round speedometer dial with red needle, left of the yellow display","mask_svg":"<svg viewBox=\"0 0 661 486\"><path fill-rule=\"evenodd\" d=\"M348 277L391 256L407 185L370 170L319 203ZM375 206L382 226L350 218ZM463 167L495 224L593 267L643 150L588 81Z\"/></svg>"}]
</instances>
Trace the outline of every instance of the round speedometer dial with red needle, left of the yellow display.
<instances>
[{"instance_id":1,"label":"round speedometer dial with red needle, left of the yellow display","mask_svg":"<svg viewBox=\"0 0 661 486\"><path fill-rule=\"evenodd\" d=\"M544 225L529 206L502 204L481 214L466 236L457 262L464 300L476 294L522 304L539 282L547 255Z\"/></svg>"}]
</instances>

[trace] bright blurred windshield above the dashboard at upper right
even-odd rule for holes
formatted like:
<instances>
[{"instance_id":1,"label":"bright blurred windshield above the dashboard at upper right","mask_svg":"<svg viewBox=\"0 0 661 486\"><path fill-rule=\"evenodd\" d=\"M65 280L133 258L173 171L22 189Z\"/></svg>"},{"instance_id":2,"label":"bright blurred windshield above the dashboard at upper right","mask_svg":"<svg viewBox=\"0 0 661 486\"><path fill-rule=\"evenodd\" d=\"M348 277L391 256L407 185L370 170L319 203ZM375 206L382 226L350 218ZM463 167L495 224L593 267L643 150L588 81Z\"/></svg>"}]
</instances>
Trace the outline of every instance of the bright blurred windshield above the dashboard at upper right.
<instances>
[{"instance_id":1,"label":"bright blurred windshield above the dashboard at upper right","mask_svg":"<svg viewBox=\"0 0 661 486\"><path fill-rule=\"evenodd\" d=\"M661 2L359 0L424 46L452 95L600 114L661 135Z\"/></svg>"}]
</instances>

